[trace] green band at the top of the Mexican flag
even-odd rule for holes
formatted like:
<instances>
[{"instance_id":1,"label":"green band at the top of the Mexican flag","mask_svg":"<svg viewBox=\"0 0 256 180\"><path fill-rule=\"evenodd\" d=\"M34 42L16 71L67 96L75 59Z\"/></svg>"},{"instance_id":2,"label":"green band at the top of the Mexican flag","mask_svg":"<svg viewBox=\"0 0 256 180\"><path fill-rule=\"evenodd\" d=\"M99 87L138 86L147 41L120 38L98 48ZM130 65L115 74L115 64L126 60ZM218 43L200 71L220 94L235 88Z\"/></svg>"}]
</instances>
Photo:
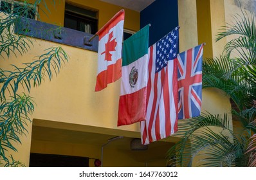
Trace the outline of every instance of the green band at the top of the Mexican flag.
<instances>
[{"instance_id":1,"label":"green band at the top of the Mexican flag","mask_svg":"<svg viewBox=\"0 0 256 180\"><path fill-rule=\"evenodd\" d=\"M123 41L123 62L127 66L147 54L149 48L149 25Z\"/></svg>"}]
</instances>

